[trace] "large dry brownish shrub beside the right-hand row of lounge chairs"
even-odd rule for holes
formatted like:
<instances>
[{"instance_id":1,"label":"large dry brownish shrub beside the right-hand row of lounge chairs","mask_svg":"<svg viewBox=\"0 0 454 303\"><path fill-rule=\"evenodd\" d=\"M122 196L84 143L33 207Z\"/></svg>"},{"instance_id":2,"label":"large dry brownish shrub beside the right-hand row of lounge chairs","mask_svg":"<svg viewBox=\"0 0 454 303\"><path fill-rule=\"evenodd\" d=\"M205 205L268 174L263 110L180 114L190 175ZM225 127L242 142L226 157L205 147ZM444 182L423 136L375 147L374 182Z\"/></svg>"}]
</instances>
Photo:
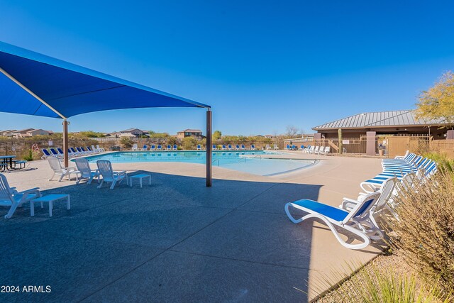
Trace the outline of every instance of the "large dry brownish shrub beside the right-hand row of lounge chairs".
<instances>
[{"instance_id":1,"label":"large dry brownish shrub beside the right-hand row of lounge chairs","mask_svg":"<svg viewBox=\"0 0 454 303\"><path fill-rule=\"evenodd\" d=\"M439 165L441 166L441 165ZM387 221L391 245L428 282L454 290L454 172L441 170L395 197L399 220Z\"/></svg>"}]
</instances>

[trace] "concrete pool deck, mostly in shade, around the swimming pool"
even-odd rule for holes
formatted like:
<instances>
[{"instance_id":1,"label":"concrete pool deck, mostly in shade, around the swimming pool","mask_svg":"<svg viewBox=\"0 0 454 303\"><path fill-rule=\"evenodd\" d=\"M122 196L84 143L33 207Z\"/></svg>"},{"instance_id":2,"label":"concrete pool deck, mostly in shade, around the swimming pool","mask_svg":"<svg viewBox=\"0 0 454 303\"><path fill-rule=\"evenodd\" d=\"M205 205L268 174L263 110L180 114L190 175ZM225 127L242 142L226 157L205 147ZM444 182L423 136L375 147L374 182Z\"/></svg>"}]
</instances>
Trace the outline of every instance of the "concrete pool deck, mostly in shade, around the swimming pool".
<instances>
[{"instance_id":1,"label":"concrete pool deck, mostly in shade, around the swimming pool","mask_svg":"<svg viewBox=\"0 0 454 303\"><path fill-rule=\"evenodd\" d=\"M321 161L275 177L214 166L211 188L205 187L204 165L191 163L114 163L133 175L150 173L152 185L142 189L126 182L114 190L96 189L96 182L49 182L47 161L6 172L11 187L70 194L72 207L57 203L49 218L47 205L35 207L34 217L26 205L9 220L3 218L8 208L0 207L2 285L51 287L48 293L0 293L1 301L314 298L321 277L333 277L345 263L371 260L380 246L344 248L323 224L292 224L284 204L309 198L338 206L381 171L380 159L289 154Z\"/></svg>"}]
</instances>

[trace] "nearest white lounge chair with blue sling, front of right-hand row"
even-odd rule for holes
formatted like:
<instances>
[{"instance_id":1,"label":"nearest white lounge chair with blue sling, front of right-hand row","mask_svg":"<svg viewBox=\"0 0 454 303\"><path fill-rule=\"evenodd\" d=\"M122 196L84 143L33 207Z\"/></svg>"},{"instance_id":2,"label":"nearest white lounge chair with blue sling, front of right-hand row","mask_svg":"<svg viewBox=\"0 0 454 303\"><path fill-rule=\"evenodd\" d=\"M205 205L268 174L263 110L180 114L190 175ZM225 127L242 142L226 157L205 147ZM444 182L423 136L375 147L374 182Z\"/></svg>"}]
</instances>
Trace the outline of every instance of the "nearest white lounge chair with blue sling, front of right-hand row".
<instances>
[{"instance_id":1,"label":"nearest white lounge chair with blue sling, front of right-hand row","mask_svg":"<svg viewBox=\"0 0 454 303\"><path fill-rule=\"evenodd\" d=\"M284 209L290 221L294 224L298 224L309 218L321 219L331 229L334 236L342 246L350 249L362 249L370 244L370 237L367 235L367 231L370 230L371 226L367 226L365 222L367 222L367 219L370 216L370 209L374 206L379 197L380 192L360 196L358 204L356 204L350 212L309 199L289 202L285 204ZM294 219L289 212L290 206L309 214L302 216L300 219ZM359 236L363 242L359 244L347 243L343 240L343 238L341 238L341 236L339 236L335 226L343 228L345 231L350 231L350 233Z\"/></svg>"}]
</instances>

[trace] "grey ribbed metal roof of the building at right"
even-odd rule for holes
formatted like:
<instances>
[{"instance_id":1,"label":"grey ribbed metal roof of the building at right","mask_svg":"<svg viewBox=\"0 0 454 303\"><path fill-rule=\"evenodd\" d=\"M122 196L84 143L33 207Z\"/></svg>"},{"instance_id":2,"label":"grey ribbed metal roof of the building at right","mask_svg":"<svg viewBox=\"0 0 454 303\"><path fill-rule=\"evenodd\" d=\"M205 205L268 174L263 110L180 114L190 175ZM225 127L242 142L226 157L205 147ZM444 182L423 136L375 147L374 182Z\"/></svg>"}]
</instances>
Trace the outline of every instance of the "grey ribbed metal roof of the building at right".
<instances>
[{"instance_id":1,"label":"grey ribbed metal roof of the building at right","mask_svg":"<svg viewBox=\"0 0 454 303\"><path fill-rule=\"evenodd\" d=\"M436 126L443 125L442 121L431 119L416 119L414 110L406 111L376 111L356 114L347 118L331 121L315 126L314 131L338 128L381 128L392 126Z\"/></svg>"}]
</instances>

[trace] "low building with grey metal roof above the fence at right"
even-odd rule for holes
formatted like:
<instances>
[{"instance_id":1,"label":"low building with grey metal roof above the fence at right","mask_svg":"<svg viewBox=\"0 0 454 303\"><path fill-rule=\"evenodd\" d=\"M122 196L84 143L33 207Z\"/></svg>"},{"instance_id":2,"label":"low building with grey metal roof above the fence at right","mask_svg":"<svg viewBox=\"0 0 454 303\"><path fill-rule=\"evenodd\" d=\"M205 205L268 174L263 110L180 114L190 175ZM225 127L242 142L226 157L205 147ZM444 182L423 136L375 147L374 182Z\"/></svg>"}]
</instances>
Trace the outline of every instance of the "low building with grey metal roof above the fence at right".
<instances>
[{"instance_id":1,"label":"low building with grey metal roof above the fence at right","mask_svg":"<svg viewBox=\"0 0 454 303\"><path fill-rule=\"evenodd\" d=\"M360 138L367 131L375 131L377 135L428 135L434 139L445 138L448 126L441 121L416 119L414 110L379 111L362 113L355 116L324 123L312 128L325 138L337 138L339 128L345 138Z\"/></svg>"}]
</instances>

